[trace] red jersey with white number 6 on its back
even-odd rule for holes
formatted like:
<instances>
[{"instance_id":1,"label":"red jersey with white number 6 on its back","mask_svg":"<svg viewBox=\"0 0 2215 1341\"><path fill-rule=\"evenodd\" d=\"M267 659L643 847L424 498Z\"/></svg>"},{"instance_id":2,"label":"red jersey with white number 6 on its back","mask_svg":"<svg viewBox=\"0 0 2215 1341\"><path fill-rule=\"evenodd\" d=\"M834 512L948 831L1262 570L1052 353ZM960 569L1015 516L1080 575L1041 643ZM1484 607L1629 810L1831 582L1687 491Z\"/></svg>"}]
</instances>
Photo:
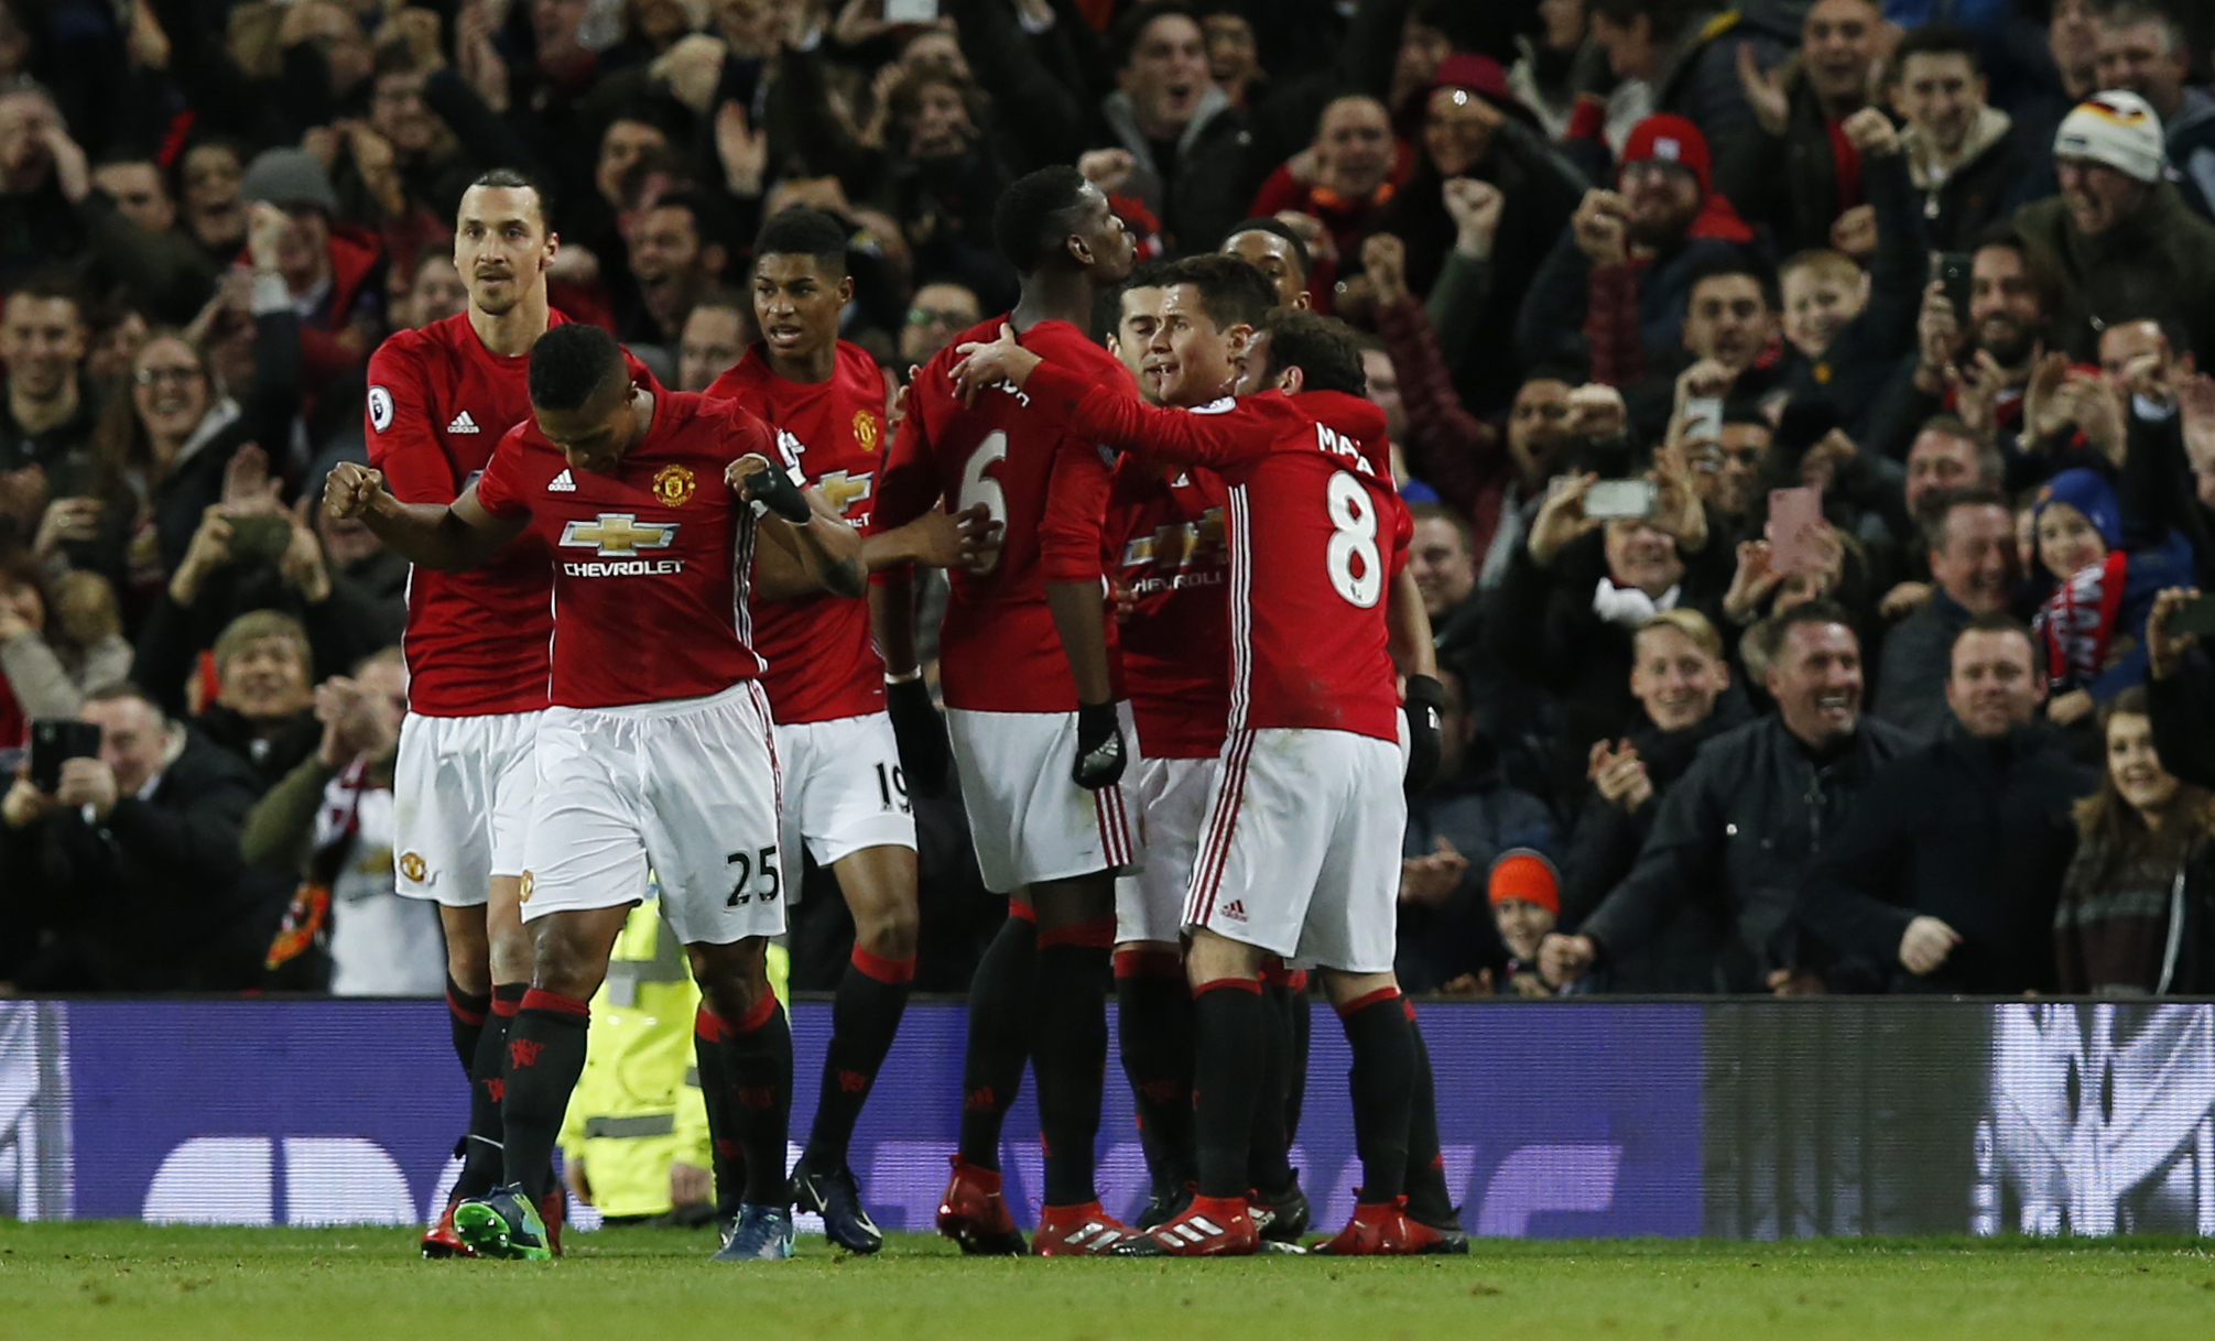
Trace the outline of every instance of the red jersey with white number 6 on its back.
<instances>
[{"instance_id":1,"label":"red jersey with white number 6 on its back","mask_svg":"<svg viewBox=\"0 0 2215 1341\"><path fill-rule=\"evenodd\" d=\"M952 593L939 628L939 682L948 708L975 713L1074 713L1076 684L1045 609L1048 582L1099 582L1110 454L1037 412L1012 385L964 405L948 372L959 345L999 339L1008 316L957 334L908 387L908 418L893 438L877 489L877 527L904 527L946 500L983 502L1006 524L988 573L948 569ZM1134 392L1130 372L1065 321L1041 321L1023 345L1072 376ZM1114 622L1108 622L1110 653ZM1116 657L1110 655L1110 666Z\"/></svg>"}]
</instances>

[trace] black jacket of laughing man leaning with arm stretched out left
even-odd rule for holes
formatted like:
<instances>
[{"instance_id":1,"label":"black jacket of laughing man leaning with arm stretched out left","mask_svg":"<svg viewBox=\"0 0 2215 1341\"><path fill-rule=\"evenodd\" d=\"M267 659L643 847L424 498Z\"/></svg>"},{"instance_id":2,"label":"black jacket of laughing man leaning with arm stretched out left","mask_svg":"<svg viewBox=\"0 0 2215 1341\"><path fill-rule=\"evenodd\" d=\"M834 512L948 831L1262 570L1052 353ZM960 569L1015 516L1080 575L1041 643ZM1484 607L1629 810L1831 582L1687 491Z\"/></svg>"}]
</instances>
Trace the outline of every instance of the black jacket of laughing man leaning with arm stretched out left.
<instances>
[{"instance_id":1,"label":"black jacket of laughing man leaning with arm stretched out left","mask_svg":"<svg viewBox=\"0 0 2215 1341\"><path fill-rule=\"evenodd\" d=\"M1770 715L1701 746L1670 788L1630 876L1584 921L1604 958L1650 945L1683 907L1710 925L1717 991L1763 991L1774 969L1819 967L1792 907L1883 763L1914 741L1867 715L1819 761Z\"/></svg>"}]
</instances>

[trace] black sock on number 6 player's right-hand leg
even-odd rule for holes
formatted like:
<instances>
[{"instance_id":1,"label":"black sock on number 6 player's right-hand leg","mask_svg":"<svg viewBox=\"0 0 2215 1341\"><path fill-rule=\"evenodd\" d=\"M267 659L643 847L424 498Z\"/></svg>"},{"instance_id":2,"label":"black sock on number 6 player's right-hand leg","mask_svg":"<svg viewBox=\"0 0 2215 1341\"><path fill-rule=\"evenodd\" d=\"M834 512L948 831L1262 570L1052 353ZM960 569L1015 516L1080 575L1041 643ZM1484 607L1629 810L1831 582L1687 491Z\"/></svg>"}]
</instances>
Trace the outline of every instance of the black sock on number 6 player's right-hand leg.
<instances>
[{"instance_id":1,"label":"black sock on number 6 player's right-hand leg","mask_svg":"<svg viewBox=\"0 0 2215 1341\"><path fill-rule=\"evenodd\" d=\"M1108 1073L1108 954L1114 918L1039 932L1034 987L1039 1029L1032 1071L1039 1078L1039 1144L1045 1146L1045 1204L1085 1206L1092 1144L1101 1131Z\"/></svg>"}]
</instances>

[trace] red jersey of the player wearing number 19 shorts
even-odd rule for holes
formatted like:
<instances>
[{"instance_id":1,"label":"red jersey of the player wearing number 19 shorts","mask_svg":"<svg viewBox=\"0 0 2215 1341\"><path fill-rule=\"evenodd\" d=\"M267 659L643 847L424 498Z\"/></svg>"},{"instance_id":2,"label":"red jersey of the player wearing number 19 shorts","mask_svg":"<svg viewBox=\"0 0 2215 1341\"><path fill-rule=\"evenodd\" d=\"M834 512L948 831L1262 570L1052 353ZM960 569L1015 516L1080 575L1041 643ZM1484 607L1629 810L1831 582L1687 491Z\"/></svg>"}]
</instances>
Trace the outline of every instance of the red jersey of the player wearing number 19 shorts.
<instances>
[{"instance_id":1,"label":"red jersey of the player wearing number 19 shorts","mask_svg":"<svg viewBox=\"0 0 2215 1341\"><path fill-rule=\"evenodd\" d=\"M862 533L877 507L884 467L884 374L859 345L837 343L826 383L791 383L771 372L762 345L707 389L769 420L800 456L824 502ZM884 708L884 659L868 635L868 602L828 591L775 600L753 611L753 651L769 662L762 688L780 724L862 717Z\"/></svg>"}]
</instances>

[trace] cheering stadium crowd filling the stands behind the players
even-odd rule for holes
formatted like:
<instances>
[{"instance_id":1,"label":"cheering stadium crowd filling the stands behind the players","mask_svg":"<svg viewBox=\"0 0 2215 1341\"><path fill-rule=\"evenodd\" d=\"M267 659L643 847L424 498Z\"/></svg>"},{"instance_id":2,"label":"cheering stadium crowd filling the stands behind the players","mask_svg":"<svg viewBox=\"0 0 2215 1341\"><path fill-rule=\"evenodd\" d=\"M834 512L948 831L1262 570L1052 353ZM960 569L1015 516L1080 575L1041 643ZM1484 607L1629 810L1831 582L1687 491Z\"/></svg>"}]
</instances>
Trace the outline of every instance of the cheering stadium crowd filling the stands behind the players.
<instances>
[{"instance_id":1,"label":"cheering stadium crowd filling the stands behind the players","mask_svg":"<svg viewBox=\"0 0 2215 1341\"><path fill-rule=\"evenodd\" d=\"M828 212L897 420L1014 301L1001 190L1076 164L1143 259L1373 332L1446 684L1409 991L2215 991L2215 666L2168 628L2215 591L2215 11L937 11L0 7L0 983L441 991L408 564L319 500L372 350L467 301L483 170L682 389L762 339L762 224ZM919 989L1003 918L961 814L917 797ZM851 940L802 901L793 985Z\"/></svg>"}]
</instances>

